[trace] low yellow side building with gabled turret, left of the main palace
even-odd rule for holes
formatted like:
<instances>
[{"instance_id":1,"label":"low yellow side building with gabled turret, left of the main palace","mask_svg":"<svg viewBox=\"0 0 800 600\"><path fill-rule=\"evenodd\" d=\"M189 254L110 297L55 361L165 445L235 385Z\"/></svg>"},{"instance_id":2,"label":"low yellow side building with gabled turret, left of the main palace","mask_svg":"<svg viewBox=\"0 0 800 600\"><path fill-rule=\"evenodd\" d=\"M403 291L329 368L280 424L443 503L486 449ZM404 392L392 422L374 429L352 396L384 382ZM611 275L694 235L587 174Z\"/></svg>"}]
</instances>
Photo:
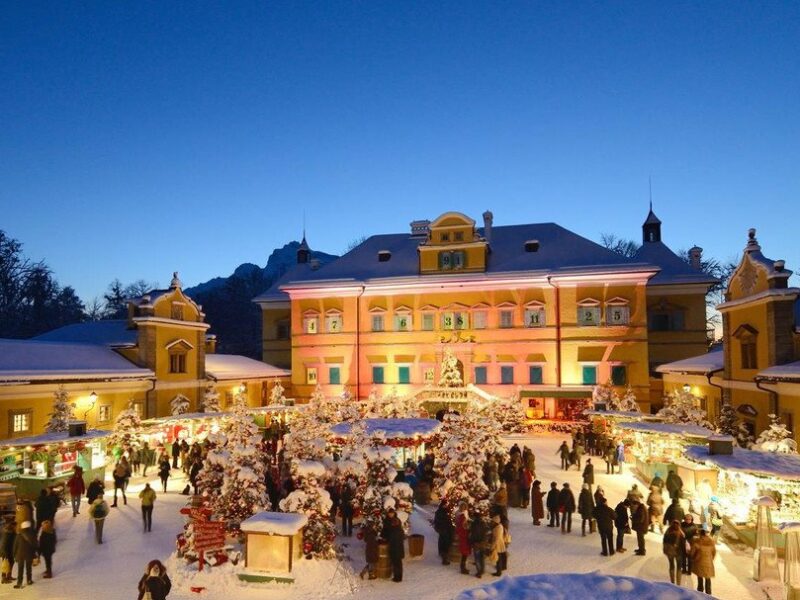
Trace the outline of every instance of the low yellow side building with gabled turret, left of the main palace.
<instances>
[{"instance_id":1,"label":"low yellow side building with gabled turret, left of the main palace","mask_svg":"<svg viewBox=\"0 0 800 600\"><path fill-rule=\"evenodd\" d=\"M61 387L75 417L98 428L111 428L128 406L142 418L168 416L177 396L188 400L190 412L200 410L210 383L223 406L241 390L250 406L266 404L268 381L288 380L288 372L215 354L208 327L175 274L169 288L129 300L127 319L0 340L0 439L42 433Z\"/></svg>"}]
</instances>

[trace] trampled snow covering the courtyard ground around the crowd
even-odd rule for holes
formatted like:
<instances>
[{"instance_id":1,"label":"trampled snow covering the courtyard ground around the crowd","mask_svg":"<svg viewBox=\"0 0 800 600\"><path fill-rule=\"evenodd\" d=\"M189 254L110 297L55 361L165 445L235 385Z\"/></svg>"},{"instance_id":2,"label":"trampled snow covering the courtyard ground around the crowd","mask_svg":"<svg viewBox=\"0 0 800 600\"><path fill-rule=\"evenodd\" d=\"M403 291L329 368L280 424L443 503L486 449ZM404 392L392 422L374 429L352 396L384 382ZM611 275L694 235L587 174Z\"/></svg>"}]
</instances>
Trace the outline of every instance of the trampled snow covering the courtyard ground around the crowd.
<instances>
[{"instance_id":1,"label":"trampled snow covering the courtyard ground around the crowd","mask_svg":"<svg viewBox=\"0 0 800 600\"><path fill-rule=\"evenodd\" d=\"M563 436L537 435L517 438L520 446L530 446L536 454L537 478L548 488L550 481L559 484L570 482L574 490L580 489L580 473L577 470L564 473L559 469L556 449ZM511 442L509 442L510 445ZM630 488L634 479L630 475L606 475L604 463L597 459L595 481L606 490L613 505ZM153 487L156 485L153 471ZM149 477L148 477L149 479ZM423 557L405 561L404 581L362 581L358 571L363 566L363 546L354 536L339 541L343 545L345 560L305 561L297 565L294 585L242 584L230 567L220 567L216 572L194 573L185 576L179 573L176 559L170 559L174 550L175 536L182 529L183 517L178 510L185 505L187 497L179 494L184 487L183 478L170 481L169 493L160 494L153 514L152 533L143 533L139 510L138 492L144 480L134 480L129 488L128 505L120 503L112 508L106 519L104 544L94 543L93 524L84 505L81 514L72 518L69 508L62 508L57 516L59 545L54 560L55 577L42 579L44 565L34 569L35 585L22 590L2 586L0 595L14 592L14 598L47 598L48 600L74 600L76 598L102 598L103 600L129 600L135 598L136 584L146 563L159 558L167 563L173 577L170 600L206 598L209 600L284 598L326 599L354 597L362 599L392 598L397 600L451 599L462 590L478 584L489 583L491 575L482 580L474 576L461 575L458 566L442 566L436 555L436 534L429 525L434 506L421 507L411 517L412 530L425 535ZM113 487L107 485L108 487ZM109 496L106 495L109 499ZM532 573L589 573L600 571L613 575L628 575L653 581L668 581L667 561L661 553L661 540L657 534L647 536L647 556L633 554L635 536L626 536L629 552L613 557L600 556L597 535L582 538L580 517L573 519L572 534L562 535L559 530L548 527L533 527L529 512L510 509L511 535L509 550L509 575ZM577 526L576 522L577 521ZM764 598L764 586L751 579L751 554L733 550L724 544L717 549L716 573L713 580L714 595L729 600ZM487 565L488 567L488 565ZM488 569L487 569L488 570ZM16 568L15 568L16 574ZM685 576L685 578L687 578ZM687 578L688 579L688 578ZM694 586L696 579L684 582L685 587ZM205 587L201 593L190 590L190 586ZM265 588L269 590L265 593ZM774 592L775 588L770 590ZM775 597L774 595L772 597Z\"/></svg>"}]
</instances>

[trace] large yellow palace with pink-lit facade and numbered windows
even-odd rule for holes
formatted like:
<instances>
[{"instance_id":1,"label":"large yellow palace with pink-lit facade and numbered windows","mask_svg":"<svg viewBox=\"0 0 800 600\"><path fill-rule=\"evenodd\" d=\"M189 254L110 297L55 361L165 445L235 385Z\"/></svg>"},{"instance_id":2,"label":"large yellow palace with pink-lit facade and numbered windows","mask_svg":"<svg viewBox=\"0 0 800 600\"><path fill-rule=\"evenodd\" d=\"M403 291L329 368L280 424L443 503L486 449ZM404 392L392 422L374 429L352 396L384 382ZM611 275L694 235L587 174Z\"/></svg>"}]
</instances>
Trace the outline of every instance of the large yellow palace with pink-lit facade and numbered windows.
<instances>
[{"instance_id":1,"label":"large yellow palace with pink-lit facade and numbered windows","mask_svg":"<svg viewBox=\"0 0 800 600\"><path fill-rule=\"evenodd\" d=\"M446 349L465 383L528 414L568 418L596 383L660 402L656 368L708 346L705 297L716 280L661 241L650 211L627 258L555 223L483 227L447 212L374 235L333 262L297 265L254 299L263 359L291 369L296 397L319 384L413 393L436 386Z\"/></svg>"}]
</instances>

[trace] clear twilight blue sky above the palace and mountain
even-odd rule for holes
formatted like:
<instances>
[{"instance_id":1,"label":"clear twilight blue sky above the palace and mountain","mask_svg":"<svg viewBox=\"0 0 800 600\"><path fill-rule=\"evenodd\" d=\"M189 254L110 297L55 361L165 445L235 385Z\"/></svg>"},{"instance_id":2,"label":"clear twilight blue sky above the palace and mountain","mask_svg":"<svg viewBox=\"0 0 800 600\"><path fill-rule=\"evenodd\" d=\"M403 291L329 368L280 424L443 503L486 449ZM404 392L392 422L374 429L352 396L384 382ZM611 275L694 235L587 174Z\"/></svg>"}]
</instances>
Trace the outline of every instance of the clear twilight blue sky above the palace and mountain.
<instances>
[{"instance_id":1,"label":"clear twilight blue sky above the palace and mountain","mask_svg":"<svg viewBox=\"0 0 800 600\"><path fill-rule=\"evenodd\" d=\"M800 3L13 2L0 228L84 298L461 210L800 270Z\"/></svg>"}]
</instances>

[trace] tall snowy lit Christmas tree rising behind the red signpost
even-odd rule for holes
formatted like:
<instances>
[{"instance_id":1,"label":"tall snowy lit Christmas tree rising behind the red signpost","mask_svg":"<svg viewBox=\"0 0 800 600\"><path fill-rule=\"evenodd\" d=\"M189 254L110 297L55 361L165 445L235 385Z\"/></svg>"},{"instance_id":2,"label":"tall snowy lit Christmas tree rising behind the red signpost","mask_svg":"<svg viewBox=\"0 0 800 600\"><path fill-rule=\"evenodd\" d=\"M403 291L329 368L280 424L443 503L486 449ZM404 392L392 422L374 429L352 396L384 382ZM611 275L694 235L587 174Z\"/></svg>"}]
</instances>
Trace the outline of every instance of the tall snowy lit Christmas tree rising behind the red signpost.
<instances>
[{"instance_id":1,"label":"tall snowy lit Christmas tree rising behind the red signpost","mask_svg":"<svg viewBox=\"0 0 800 600\"><path fill-rule=\"evenodd\" d=\"M262 510L269 510L264 483L266 453L258 426L247 414L243 394L234 398L233 411L225 429L227 460L224 461L222 486L214 502L214 512L231 530Z\"/></svg>"}]
</instances>

